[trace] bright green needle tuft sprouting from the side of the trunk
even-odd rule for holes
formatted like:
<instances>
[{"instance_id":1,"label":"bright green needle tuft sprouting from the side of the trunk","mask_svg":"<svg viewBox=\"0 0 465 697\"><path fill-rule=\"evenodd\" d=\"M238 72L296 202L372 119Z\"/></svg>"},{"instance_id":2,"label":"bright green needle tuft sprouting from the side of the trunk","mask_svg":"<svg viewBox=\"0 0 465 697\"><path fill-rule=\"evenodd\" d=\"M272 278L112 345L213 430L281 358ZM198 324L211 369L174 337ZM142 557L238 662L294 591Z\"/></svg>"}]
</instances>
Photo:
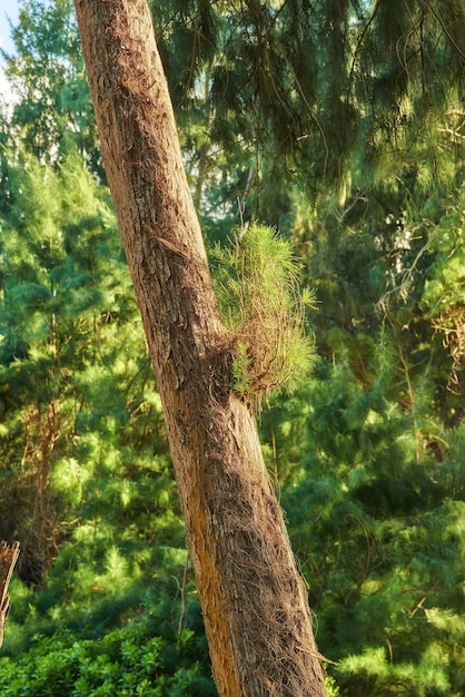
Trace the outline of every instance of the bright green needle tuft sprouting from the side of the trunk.
<instances>
[{"instance_id":1,"label":"bright green needle tuft sprouting from the side of the trunk","mask_svg":"<svg viewBox=\"0 0 465 697\"><path fill-rule=\"evenodd\" d=\"M269 227L251 225L212 257L219 306L234 335L234 389L259 410L265 395L291 392L313 367L305 312L314 296L300 293L291 245Z\"/></svg>"}]
</instances>

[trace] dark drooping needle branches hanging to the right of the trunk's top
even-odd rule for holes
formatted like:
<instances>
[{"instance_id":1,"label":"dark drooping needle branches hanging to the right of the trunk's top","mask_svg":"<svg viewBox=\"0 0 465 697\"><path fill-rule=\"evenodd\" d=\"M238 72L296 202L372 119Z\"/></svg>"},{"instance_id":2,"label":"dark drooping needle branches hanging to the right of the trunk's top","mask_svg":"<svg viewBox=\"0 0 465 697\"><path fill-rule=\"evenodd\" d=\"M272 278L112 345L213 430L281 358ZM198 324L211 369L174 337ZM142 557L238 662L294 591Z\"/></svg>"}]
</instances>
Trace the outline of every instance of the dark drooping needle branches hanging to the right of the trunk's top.
<instances>
[{"instance_id":1,"label":"dark drooping needle branches hanging to the right of the trunk's top","mask_svg":"<svg viewBox=\"0 0 465 697\"><path fill-rule=\"evenodd\" d=\"M463 112L459 0L150 4L209 234L237 223L238 203L278 224L294 186L344 204L404 167L424 180L449 169L439 140Z\"/></svg>"}]
</instances>

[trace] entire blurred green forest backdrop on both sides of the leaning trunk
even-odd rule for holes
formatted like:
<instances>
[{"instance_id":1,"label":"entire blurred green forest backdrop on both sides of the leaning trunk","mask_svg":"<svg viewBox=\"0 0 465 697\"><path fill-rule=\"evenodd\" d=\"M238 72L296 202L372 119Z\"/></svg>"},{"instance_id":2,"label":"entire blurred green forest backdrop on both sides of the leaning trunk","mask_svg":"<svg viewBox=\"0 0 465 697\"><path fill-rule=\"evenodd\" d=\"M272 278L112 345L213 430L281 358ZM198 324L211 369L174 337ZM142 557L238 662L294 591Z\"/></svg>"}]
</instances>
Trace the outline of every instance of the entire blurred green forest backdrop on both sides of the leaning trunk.
<instances>
[{"instance_id":1,"label":"entire blurred green forest backdrop on both sides of the leaning trunk","mask_svg":"<svg viewBox=\"0 0 465 697\"><path fill-rule=\"evenodd\" d=\"M465 7L149 4L211 267L257 223L314 298L313 369L259 428L329 695L458 697ZM22 551L1 690L215 695L72 2L23 0L11 31L0 538Z\"/></svg>"}]
</instances>

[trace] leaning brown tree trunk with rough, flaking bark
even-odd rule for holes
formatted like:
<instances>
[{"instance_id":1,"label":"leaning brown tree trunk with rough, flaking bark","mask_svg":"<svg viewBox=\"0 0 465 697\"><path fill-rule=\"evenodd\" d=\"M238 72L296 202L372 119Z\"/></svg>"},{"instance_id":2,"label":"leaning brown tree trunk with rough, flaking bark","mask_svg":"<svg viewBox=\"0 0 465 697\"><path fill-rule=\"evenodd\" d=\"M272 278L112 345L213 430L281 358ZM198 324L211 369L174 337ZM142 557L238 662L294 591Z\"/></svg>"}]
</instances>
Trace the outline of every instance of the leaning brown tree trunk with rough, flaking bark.
<instances>
[{"instance_id":1,"label":"leaning brown tree trunk with rough, flaking bark","mask_svg":"<svg viewBox=\"0 0 465 697\"><path fill-rule=\"evenodd\" d=\"M305 583L220 322L145 0L75 0L220 695L324 696Z\"/></svg>"}]
</instances>

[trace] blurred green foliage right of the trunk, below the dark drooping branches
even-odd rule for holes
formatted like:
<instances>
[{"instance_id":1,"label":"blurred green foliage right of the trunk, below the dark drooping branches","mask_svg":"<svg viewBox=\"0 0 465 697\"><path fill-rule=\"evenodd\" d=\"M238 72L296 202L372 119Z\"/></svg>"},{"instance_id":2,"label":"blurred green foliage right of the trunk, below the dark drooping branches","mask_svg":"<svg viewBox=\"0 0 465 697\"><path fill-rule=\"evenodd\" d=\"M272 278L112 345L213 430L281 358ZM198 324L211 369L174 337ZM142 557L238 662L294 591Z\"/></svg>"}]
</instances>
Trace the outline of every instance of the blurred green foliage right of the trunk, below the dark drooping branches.
<instances>
[{"instance_id":1,"label":"blurred green foliage right of the trunk, below the dark drooping branches","mask_svg":"<svg viewBox=\"0 0 465 697\"><path fill-rule=\"evenodd\" d=\"M454 177L429 187L310 210L300 195L289 220L319 360L264 413L265 454L318 646L350 696L464 689L463 195Z\"/></svg>"}]
</instances>

